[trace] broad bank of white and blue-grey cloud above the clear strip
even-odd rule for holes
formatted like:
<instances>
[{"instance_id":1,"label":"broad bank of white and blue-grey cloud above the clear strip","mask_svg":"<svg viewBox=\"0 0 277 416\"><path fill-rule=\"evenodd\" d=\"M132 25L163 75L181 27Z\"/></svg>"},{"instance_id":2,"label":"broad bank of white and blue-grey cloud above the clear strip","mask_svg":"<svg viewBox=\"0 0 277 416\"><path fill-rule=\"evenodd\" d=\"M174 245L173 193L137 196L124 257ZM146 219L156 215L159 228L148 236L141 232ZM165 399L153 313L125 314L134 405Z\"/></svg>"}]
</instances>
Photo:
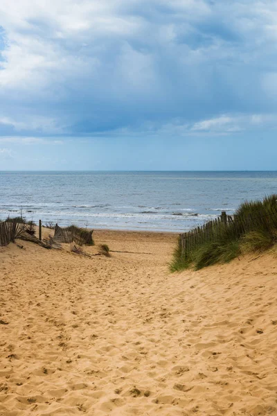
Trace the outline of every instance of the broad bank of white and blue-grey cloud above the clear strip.
<instances>
[{"instance_id":1,"label":"broad bank of white and blue-grey cloud above the clear strip","mask_svg":"<svg viewBox=\"0 0 277 416\"><path fill-rule=\"evenodd\" d=\"M3 135L228 133L277 111L269 0L1 0L0 15Z\"/></svg>"}]
</instances>

